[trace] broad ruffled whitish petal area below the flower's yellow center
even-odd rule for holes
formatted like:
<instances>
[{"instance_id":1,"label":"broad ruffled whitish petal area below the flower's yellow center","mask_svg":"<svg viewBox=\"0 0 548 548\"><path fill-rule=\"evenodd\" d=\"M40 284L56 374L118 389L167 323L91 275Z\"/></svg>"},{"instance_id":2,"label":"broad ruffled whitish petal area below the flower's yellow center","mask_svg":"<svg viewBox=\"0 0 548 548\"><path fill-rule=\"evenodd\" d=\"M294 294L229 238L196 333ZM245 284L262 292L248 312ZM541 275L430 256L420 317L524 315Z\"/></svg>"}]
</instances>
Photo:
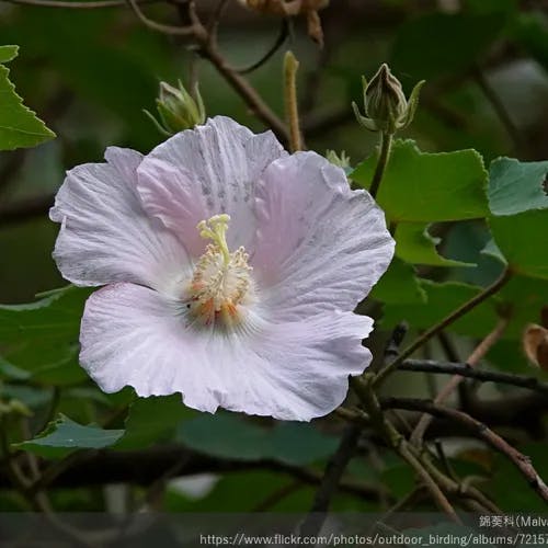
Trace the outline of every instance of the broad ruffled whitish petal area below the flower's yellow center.
<instances>
[{"instance_id":1,"label":"broad ruffled whitish petal area below the flower's yellow center","mask_svg":"<svg viewBox=\"0 0 548 548\"><path fill-rule=\"evenodd\" d=\"M85 305L80 361L106 392L181 392L202 411L308 421L339 406L347 376L370 362L361 340L370 318L327 312L307 322L263 321L244 334L196 331L173 299L133 284L95 292Z\"/></svg>"}]
</instances>

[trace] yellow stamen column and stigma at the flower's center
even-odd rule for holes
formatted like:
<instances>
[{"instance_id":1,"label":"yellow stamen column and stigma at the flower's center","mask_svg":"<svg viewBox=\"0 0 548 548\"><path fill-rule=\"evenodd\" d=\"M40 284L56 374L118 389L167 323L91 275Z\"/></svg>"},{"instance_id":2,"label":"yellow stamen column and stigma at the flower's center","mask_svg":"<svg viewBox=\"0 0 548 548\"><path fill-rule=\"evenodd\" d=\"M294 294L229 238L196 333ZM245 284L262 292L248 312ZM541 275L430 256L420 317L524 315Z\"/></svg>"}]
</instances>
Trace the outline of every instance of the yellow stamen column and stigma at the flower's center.
<instances>
[{"instance_id":1,"label":"yellow stamen column and stigma at the flower's center","mask_svg":"<svg viewBox=\"0 0 548 548\"><path fill-rule=\"evenodd\" d=\"M212 240L199 258L185 300L192 320L204 326L220 324L230 329L241 321L241 304L252 294L251 266L243 247L230 252L227 230L230 216L214 215L196 228Z\"/></svg>"}]
</instances>

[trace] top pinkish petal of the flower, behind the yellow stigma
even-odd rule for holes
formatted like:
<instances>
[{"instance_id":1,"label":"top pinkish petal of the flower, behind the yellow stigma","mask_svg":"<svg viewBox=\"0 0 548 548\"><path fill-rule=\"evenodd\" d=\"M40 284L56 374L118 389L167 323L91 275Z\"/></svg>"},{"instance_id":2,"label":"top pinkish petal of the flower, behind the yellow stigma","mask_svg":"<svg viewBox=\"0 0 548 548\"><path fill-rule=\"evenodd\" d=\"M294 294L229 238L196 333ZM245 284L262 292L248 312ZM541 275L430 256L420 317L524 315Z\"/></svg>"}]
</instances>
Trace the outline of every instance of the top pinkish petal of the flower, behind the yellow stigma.
<instances>
[{"instance_id":1,"label":"top pinkish petal of the flower, behind the yellow stigma","mask_svg":"<svg viewBox=\"0 0 548 548\"><path fill-rule=\"evenodd\" d=\"M175 232L194 256L206 244L196 225L219 213L232 217L229 246L249 250L255 232L255 182L284 155L272 132L254 135L216 116L152 150L138 169L138 189L147 212Z\"/></svg>"}]
</instances>

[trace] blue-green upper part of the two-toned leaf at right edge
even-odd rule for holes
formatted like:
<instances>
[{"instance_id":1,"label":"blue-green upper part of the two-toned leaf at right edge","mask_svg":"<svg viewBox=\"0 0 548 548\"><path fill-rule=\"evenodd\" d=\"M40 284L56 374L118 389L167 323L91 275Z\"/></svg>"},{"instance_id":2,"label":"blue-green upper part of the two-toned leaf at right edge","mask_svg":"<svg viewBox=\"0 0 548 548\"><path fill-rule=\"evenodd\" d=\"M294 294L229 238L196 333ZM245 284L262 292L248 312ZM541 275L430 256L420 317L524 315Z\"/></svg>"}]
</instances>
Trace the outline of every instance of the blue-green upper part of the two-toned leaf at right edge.
<instances>
[{"instance_id":1,"label":"blue-green upper part of the two-toned leaf at right edge","mask_svg":"<svg viewBox=\"0 0 548 548\"><path fill-rule=\"evenodd\" d=\"M492 215L507 216L547 209L548 195L544 184L548 173L546 162L521 162L499 158L489 171L489 208Z\"/></svg>"}]
</instances>

